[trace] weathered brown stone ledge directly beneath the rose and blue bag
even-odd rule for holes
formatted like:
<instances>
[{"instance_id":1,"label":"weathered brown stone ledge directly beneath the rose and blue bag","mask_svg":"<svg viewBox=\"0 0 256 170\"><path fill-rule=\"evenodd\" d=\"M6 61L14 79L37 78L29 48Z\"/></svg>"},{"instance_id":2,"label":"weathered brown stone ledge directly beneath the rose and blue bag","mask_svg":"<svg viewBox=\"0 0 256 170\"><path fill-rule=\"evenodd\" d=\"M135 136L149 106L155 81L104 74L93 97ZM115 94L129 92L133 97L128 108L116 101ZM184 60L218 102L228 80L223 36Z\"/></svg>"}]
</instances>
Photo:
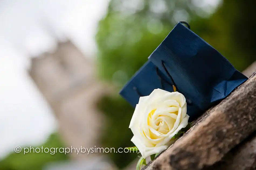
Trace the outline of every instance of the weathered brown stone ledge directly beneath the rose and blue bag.
<instances>
[{"instance_id":1,"label":"weathered brown stone ledge directly beneath the rose and blue bag","mask_svg":"<svg viewBox=\"0 0 256 170\"><path fill-rule=\"evenodd\" d=\"M255 122L256 73L145 169L211 169L256 130Z\"/></svg>"}]
</instances>

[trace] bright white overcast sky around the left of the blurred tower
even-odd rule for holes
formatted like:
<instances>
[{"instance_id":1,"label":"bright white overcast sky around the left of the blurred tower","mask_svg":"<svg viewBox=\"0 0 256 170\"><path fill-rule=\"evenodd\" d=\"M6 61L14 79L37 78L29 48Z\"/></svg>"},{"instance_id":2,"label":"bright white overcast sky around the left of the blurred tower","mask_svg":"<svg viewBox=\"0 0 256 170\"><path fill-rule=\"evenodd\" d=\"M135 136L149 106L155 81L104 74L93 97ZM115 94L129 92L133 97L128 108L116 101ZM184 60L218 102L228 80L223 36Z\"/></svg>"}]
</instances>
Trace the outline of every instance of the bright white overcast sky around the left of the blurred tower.
<instances>
[{"instance_id":1,"label":"bright white overcast sky around the left of the blurred tower","mask_svg":"<svg viewBox=\"0 0 256 170\"><path fill-rule=\"evenodd\" d=\"M14 147L44 142L57 121L26 73L29 54L39 54L54 39L41 23L65 34L87 56L95 51L98 20L108 0L0 1L0 158Z\"/></svg>"}]
</instances>

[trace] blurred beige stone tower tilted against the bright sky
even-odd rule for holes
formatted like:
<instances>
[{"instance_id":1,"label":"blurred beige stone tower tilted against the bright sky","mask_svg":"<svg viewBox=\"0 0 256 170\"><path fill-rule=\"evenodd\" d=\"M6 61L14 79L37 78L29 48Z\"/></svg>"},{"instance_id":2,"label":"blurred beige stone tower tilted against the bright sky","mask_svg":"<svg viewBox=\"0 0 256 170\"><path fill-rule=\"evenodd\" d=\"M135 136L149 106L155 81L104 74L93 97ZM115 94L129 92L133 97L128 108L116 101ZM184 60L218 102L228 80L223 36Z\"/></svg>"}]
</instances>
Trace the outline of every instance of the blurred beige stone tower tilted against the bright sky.
<instances>
[{"instance_id":1,"label":"blurred beige stone tower tilted against the bright sky","mask_svg":"<svg viewBox=\"0 0 256 170\"><path fill-rule=\"evenodd\" d=\"M56 115L67 147L99 147L103 119L95 102L106 88L96 80L94 67L71 41L58 42L55 52L32 58L29 74ZM94 154L71 155L79 160Z\"/></svg>"}]
</instances>

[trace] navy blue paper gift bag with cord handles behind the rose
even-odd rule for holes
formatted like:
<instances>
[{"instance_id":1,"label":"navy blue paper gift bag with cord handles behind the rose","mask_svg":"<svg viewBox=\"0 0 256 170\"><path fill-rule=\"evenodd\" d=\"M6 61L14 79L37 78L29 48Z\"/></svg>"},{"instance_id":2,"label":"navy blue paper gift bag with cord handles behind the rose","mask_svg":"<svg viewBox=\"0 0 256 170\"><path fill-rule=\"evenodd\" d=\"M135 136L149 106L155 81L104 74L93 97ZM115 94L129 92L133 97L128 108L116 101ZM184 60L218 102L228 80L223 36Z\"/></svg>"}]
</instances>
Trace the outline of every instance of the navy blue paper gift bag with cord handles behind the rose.
<instances>
[{"instance_id":1,"label":"navy blue paper gift bag with cord handles behind the rose","mask_svg":"<svg viewBox=\"0 0 256 170\"><path fill-rule=\"evenodd\" d=\"M148 96L157 88L173 92L175 85L185 96L187 114L193 121L247 79L189 26L179 22L120 95L135 107L140 96Z\"/></svg>"}]
</instances>

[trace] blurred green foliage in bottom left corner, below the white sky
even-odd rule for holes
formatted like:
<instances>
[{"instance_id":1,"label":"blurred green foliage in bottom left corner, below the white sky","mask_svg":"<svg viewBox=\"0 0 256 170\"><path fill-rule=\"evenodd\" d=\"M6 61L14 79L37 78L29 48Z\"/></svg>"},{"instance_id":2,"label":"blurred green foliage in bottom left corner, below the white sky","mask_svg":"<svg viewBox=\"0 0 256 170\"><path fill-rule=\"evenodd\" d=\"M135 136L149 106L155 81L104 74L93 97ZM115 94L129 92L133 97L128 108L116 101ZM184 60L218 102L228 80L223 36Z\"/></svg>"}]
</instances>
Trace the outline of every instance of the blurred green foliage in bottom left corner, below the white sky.
<instances>
[{"instance_id":1,"label":"blurred green foliage in bottom left corner, below the white sky","mask_svg":"<svg viewBox=\"0 0 256 170\"><path fill-rule=\"evenodd\" d=\"M63 147L57 133L52 134L49 139L40 146L34 146L44 148L51 147ZM29 147L28 147L29 148ZM41 170L44 165L50 162L68 160L68 156L64 153L55 153L51 155L50 153L26 153L24 155L23 149L20 153L11 153L6 158L0 161L0 170Z\"/></svg>"}]
</instances>

